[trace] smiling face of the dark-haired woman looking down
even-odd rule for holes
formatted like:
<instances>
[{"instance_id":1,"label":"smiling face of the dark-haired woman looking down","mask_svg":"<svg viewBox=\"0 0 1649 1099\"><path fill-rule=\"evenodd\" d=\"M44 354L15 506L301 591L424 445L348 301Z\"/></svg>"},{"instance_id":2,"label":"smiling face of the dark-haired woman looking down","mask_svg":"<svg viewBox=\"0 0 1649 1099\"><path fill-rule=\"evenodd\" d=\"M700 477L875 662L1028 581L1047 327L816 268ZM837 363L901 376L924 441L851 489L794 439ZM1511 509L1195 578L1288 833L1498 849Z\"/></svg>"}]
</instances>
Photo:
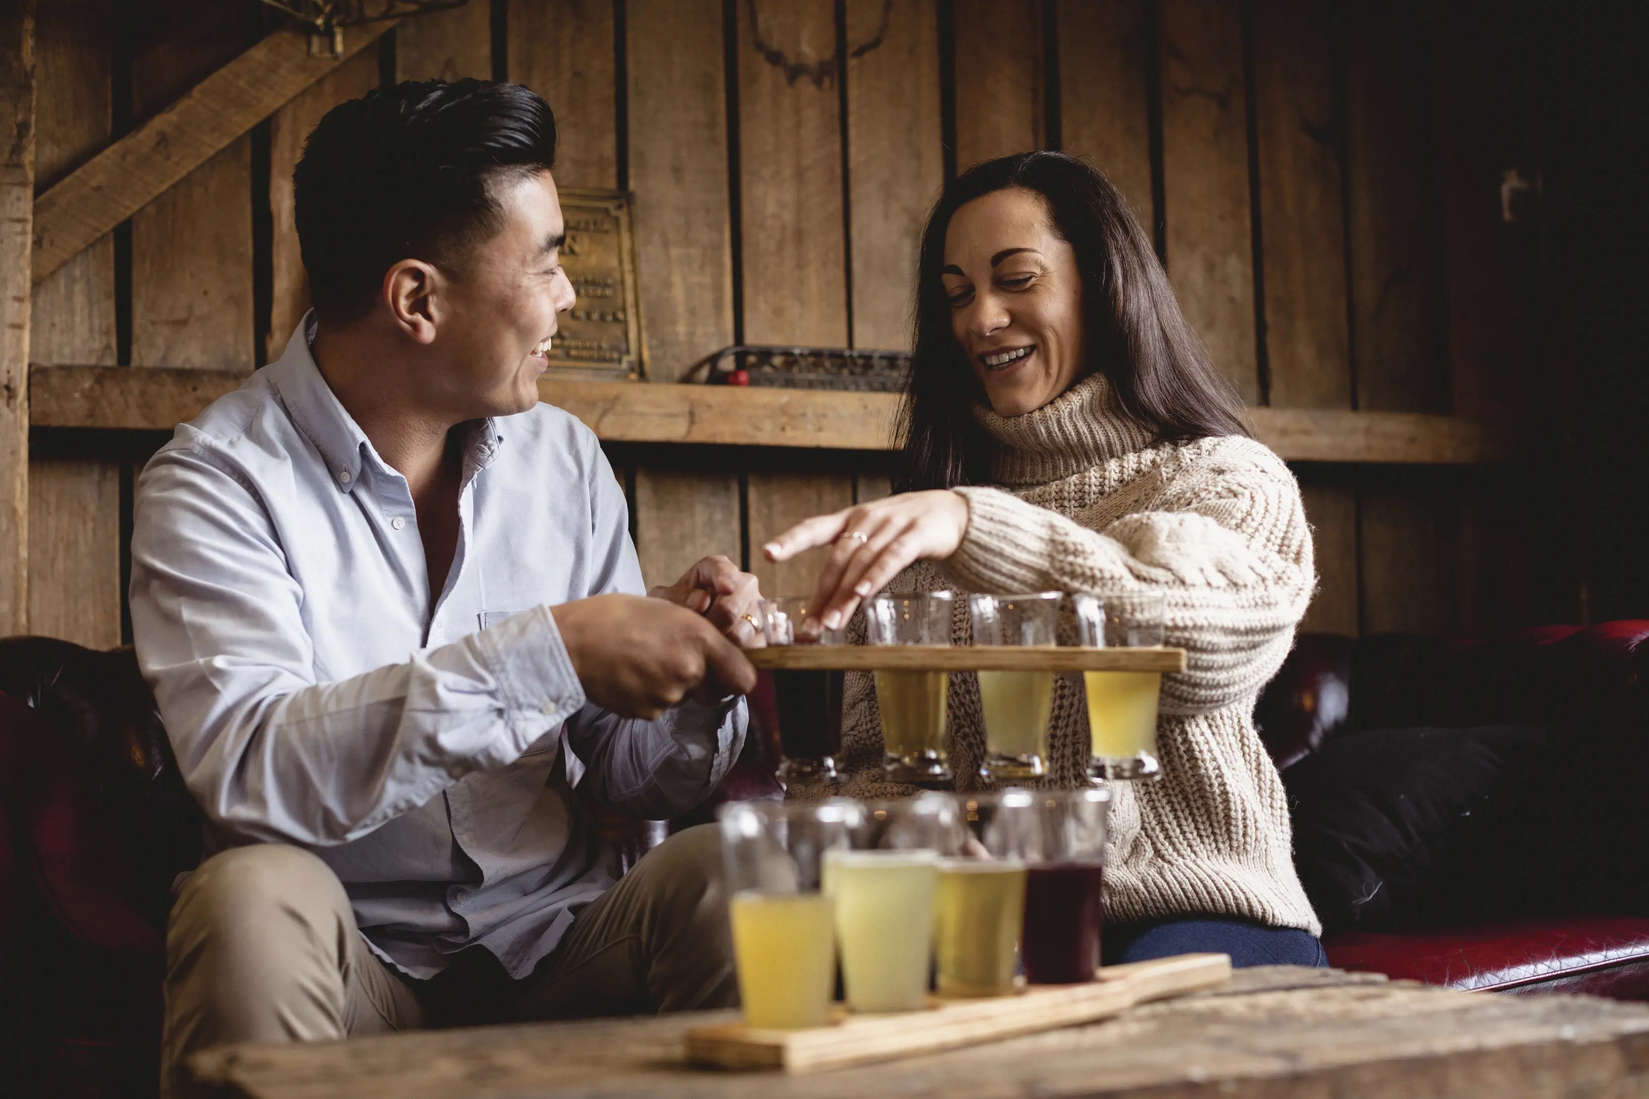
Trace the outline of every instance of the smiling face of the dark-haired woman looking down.
<instances>
[{"instance_id":1,"label":"smiling face of the dark-haired woman looking down","mask_svg":"<svg viewBox=\"0 0 1649 1099\"><path fill-rule=\"evenodd\" d=\"M1082 377L1082 274L1036 191L991 191L945 229L950 330L998 415L1024 415Z\"/></svg>"}]
</instances>

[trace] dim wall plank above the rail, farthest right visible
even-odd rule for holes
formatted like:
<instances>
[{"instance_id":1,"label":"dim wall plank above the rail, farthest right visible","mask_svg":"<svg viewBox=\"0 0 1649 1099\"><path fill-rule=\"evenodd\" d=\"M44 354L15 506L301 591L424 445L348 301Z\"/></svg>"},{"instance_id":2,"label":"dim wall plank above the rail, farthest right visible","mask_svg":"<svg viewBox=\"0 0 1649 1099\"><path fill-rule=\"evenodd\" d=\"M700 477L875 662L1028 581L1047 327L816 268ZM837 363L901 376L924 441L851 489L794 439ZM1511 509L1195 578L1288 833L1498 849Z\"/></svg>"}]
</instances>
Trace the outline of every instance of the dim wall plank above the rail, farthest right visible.
<instances>
[{"instance_id":1,"label":"dim wall plank above the rail, farthest right visible","mask_svg":"<svg viewBox=\"0 0 1649 1099\"><path fill-rule=\"evenodd\" d=\"M1413 3L1346 10L1346 199L1357 407L1446 412L1436 163Z\"/></svg>"}]
</instances>

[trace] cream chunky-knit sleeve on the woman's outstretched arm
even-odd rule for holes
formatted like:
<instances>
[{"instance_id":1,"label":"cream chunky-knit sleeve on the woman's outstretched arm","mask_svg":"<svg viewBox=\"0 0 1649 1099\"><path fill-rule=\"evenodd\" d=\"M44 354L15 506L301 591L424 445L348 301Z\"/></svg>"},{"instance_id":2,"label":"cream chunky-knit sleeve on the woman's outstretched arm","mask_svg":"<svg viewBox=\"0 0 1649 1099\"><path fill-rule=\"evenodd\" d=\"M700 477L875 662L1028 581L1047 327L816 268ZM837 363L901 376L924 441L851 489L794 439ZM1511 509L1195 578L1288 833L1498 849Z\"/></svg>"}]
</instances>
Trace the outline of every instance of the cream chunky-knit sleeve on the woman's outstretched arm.
<instances>
[{"instance_id":1,"label":"cream chunky-knit sleeve on the woman's outstretched arm","mask_svg":"<svg viewBox=\"0 0 1649 1099\"><path fill-rule=\"evenodd\" d=\"M943 568L975 592L1161 592L1166 643L1187 651L1187 671L1163 679L1163 712L1232 705L1288 656L1314 573L1293 475L1258 443L1219 443L1181 451L1151 507L1103 529L960 488L968 534Z\"/></svg>"}]
</instances>

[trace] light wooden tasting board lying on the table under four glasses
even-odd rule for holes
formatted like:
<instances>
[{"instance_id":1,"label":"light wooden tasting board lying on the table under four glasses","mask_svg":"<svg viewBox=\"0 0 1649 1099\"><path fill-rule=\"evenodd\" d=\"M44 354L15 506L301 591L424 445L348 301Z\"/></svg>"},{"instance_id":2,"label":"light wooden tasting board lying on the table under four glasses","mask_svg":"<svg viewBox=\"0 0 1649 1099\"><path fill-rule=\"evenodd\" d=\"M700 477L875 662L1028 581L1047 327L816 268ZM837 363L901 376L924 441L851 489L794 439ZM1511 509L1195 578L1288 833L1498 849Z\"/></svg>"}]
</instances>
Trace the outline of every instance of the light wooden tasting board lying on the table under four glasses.
<instances>
[{"instance_id":1,"label":"light wooden tasting board lying on the table under four glasses","mask_svg":"<svg viewBox=\"0 0 1649 1099\"><path fill-rule=\"evenodd\" d=\"M843 1012L834 1025L816 1030L694 1027L688 1031L688 1061L706 1068L818 1073L1092 1023L1135 1003L1225 984L1230 975L1229 954L1179 954L1108 966L1085 985L1031 985L1017 995L984 1000L935 998L925 1012L899 1015Z\"/></svg>"}]
</instances>

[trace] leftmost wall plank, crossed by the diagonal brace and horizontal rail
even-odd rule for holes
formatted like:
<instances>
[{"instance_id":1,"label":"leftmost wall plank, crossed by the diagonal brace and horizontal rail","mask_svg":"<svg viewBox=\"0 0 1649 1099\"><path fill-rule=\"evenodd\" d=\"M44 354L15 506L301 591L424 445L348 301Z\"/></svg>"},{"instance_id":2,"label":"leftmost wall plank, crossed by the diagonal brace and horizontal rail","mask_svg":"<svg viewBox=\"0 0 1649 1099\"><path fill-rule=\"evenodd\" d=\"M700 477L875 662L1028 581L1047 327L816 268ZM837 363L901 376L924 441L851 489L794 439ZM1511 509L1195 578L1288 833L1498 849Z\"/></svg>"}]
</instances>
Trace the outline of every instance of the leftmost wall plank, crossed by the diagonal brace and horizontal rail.
<instances>
[{"instance_id":1,"label":"leftmost wall plank, crossed by the diagonal brace and horizontal rail","mask_svg":"<svg viewBox=\"0 0 1649 1099\"><path fill-rule=\"evenodd\" d=\"M109 23L107 0L61 0L40 12L36 191L109 142ZM35 287L30 358L115 362L110 236ZM120 644L120 466L33 456L28 476L30 629L94 649Z\"/></svg>"}]
</instances>

